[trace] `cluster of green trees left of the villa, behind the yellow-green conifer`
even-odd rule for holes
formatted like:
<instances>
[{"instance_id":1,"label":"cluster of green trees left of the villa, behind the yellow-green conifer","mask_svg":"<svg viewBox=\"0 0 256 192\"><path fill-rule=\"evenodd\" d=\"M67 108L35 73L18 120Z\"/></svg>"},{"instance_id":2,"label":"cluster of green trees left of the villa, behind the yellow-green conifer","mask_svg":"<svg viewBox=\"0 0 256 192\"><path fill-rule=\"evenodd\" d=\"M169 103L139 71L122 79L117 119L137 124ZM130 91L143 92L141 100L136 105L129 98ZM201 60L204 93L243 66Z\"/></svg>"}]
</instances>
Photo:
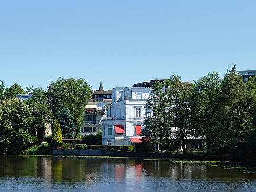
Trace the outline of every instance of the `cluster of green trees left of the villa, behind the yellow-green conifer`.
<instances>
[{"instance_id":1,"label":"cluster of green trees left of the villa, behind the yellow-green conifer","mask_svg":"<svg viewBox=\"0 0 256 192\"><path fill-rule=\"evenodd\" d=\"M17 83L5 88L4 80L0 81L0 154L20 154L42 142L46 126L53 125L54 119L60 123L63 138L78 136L84 105L91 96L85 80L60 77L47 90L26 89ZM28 92L33 94L27 101L15 98Z\"/></svg>"}]
</instances>

